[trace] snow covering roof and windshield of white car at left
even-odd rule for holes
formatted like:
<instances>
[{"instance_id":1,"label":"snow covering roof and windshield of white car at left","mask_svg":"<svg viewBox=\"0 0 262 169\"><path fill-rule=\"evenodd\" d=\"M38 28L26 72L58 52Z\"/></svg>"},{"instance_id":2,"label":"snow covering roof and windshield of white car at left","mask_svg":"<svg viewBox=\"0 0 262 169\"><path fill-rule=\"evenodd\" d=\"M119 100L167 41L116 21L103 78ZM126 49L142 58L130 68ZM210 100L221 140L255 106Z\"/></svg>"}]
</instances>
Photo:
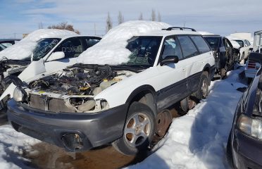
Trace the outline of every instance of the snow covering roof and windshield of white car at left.
<instances>
[{"instance_id":1,"label":"snow covering roof and windshield of white car at left","mask_svg":"<svg viewBox=\"0 0 262 169\"><path fill-rule=\"evenodd\" d=\"M37 41L42 38L47 37L62 37L66 35L77 35L75 32L68 30L56 30L56 29L41 29L35 30L30 33L24 39L20 40L20 42L10 46L4 51L0 52L0 59L3 57L9 59L24 59L31 56L32 51L37 46Z\"/></svg>"}]
</instances>

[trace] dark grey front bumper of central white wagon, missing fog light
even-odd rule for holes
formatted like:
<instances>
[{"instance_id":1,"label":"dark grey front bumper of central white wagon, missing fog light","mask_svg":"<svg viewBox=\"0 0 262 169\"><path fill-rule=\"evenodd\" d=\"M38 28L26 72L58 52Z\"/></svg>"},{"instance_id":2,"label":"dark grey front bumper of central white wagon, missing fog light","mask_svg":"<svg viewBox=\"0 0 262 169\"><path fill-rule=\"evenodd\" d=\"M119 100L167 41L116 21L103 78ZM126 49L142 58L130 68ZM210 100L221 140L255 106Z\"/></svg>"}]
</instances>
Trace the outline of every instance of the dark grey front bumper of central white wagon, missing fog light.
<instances>
[{"instance_id":1,"label":"dark grey front bumper of central white wagon, missing fog light","mask_svg":"<svg viewBox=\"0 0 262 169\"><path fill-rule=\"evenodd\" d=\"M89 150L120 138L126 115L127 104L99 113L54 113L30 108L13 99L8 101L8 120L15 130L67 151ZM78 134L82 149L67 146L63 141L65 134Z\"/></svg>"}]
</instances>

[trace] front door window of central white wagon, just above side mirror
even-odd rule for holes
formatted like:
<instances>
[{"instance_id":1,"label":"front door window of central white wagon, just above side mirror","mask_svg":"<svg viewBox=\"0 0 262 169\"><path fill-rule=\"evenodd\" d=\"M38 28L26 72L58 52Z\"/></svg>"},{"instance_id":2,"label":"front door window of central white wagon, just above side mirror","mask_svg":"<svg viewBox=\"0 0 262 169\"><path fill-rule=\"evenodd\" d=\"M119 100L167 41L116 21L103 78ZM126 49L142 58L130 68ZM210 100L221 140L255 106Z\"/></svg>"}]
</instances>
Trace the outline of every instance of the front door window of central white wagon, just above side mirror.
<instances>
[{"instance_id":1,"label":"front door window of central white wagon, just above side mirror","mask_svg":"<svg viewBox=\"0 0 262 169\"><path fill-rule=\"evenodd\" d=\"M166 56L177 56L179 60L183 58L180 45L175 37L169 37L163 43L164 46L161 59L166 58Z\"/></svg>"}]
</instances>

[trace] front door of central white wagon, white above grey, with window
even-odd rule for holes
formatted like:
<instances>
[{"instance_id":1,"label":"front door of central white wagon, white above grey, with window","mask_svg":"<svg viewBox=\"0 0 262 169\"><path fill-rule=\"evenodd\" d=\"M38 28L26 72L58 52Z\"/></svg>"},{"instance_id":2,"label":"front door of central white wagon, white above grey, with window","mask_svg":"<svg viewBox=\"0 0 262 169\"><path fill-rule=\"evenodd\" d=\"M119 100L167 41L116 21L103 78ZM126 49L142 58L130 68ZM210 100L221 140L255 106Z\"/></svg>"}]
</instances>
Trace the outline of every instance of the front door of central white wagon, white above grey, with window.
<instances>
[{"instance_id":1,"label":"front door of central white wagon, white above grey, with window","mask_svg":"<svg viewBox=\"0 0 262 169\"><path fill-rule=\"evenodd\" d=\"M187 77L186 65L183 60L180 44L176 37L166 37L163 42L163 49L159 57L160 61L166 56L177 56L180 61L178 63L170 63L168 65L157 66L159 75L161 75L162 89L158 93L157 107L158 110L171 106L180 99L187 96Z\"/></svg>"}]
</instances>

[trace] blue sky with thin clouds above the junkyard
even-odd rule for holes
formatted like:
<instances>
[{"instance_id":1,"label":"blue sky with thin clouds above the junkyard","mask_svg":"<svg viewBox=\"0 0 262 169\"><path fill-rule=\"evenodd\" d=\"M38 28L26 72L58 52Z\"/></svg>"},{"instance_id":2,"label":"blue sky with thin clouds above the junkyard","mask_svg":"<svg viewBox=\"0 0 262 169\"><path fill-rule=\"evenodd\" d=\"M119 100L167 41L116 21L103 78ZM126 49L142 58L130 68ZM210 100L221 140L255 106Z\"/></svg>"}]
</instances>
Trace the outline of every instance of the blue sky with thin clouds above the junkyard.
<instances>
[{"instance_id":1,"label":"blue sky with thin clouds above the junkyard","mask_svg":"<svg viewBox=\"0 0 262 169\"><path fill-rule=\"evenodd\" d=\"M161 20L174 26L194 27L220 35L262 30L259 0L0 0L0 38L22 37L23 33L61 22L73 24L82 34L104 35L109 12L113 26L118 25L118 12L125 21L137 20L143 13L149 20L151 10Z\"/></svg>"}]
</instances>

